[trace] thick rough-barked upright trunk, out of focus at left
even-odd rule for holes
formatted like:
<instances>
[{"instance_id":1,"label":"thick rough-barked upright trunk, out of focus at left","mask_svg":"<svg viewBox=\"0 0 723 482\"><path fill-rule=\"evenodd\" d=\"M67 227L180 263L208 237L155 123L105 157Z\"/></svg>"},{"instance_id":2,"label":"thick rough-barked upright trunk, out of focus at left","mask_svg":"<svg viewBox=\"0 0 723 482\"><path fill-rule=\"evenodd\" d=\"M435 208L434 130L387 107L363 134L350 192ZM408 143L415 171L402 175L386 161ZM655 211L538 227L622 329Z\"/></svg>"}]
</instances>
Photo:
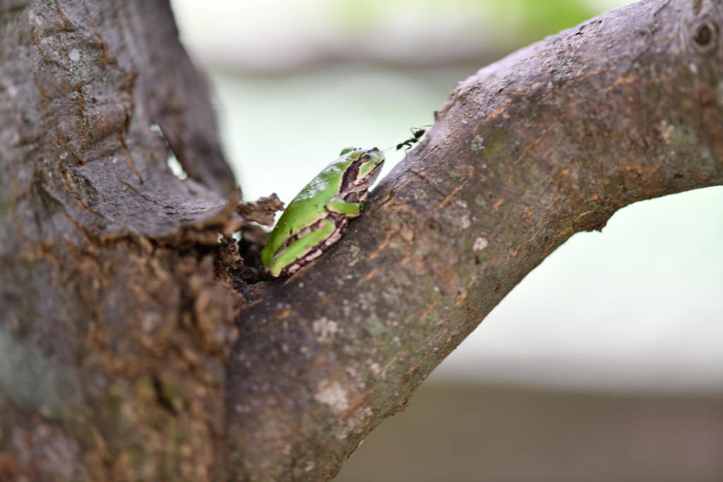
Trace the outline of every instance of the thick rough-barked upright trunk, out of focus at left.
<instances>
[{"instance_id":1,"label":"thick rough-barked upright trunk, out of focus at left","mask_svg":"<svg viewBox=\"0 0 723 482\"><path fill-rule=\"evenodd\" d=\"M168 1L0 20L0 480L221 478L235 181Z\"/></svg>"}]
</instances>

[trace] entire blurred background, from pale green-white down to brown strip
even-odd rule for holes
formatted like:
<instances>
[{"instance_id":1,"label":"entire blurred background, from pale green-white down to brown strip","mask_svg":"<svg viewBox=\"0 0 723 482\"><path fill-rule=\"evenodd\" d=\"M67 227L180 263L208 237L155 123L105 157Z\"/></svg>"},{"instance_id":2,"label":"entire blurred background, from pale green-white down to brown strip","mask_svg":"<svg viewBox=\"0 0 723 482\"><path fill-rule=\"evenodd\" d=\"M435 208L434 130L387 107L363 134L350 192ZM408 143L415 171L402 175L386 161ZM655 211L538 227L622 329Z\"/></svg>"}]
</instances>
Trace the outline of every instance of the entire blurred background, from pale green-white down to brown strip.
<instances>
[{"instance_id":1,"label":"entire blurred background, from pale green-white down to brown strip","mask_svg":"<svg viewBox=\"0 0 723 482\"><path fill-rule=\"evenodd\" d=\"M482 66L627 3L172 1L244 197L284 202L341 148L432 124ZM576 234L336 480L722 481L721 239L723 188Z\"/></svg>"}]
</instances>

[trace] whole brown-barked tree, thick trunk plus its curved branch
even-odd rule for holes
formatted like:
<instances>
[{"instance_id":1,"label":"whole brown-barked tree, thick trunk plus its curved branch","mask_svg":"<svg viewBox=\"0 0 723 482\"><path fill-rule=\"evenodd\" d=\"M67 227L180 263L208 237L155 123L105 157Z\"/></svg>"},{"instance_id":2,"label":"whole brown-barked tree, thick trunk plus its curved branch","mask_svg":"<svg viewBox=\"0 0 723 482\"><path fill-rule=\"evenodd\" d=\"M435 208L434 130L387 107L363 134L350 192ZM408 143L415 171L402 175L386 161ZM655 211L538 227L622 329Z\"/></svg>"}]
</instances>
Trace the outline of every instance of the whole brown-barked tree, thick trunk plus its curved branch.
<instances>
[{"instance_id":1,"label":"whole brown-barked tree, thick trunk plus its curved branch","mask_svg":"<svg viewBox=\"0 0 723 482\"><path fill-rule=\"evenodd\" d=\"M570 236L723 184L723 1L643 0L459 82L333 249L249 284L264 208L168 1L0 21L2 481L330 480Z\"/></svg>"}]
</instances>

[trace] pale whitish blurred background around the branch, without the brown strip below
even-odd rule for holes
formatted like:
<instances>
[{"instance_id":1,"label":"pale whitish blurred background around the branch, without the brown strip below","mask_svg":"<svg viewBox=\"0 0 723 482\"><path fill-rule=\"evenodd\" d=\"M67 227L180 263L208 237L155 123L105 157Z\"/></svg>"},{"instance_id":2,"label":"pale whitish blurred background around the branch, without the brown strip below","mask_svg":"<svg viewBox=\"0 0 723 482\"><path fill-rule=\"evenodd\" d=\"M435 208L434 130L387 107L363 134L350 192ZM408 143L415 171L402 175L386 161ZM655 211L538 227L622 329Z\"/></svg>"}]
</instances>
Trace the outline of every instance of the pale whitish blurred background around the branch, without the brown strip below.
<instances>
[{"instance_id":1,"label":"pale whitish blurred background around the branch, without the brown strip below","mask_svg":"<svg viewBox=\"0 0 723 482\"><path fill-rule=\"evenodd\" d=\"M284 202L341 148L385 149L432 124L453 84L485 64L627 3L172 0L244 197ZM390 151L385 173L402 155ZM548 257L423 387L719 396L721 240L723 187L626 207ZM566 480L551 477L505 480Z\"/></svg>"}]
</instances>

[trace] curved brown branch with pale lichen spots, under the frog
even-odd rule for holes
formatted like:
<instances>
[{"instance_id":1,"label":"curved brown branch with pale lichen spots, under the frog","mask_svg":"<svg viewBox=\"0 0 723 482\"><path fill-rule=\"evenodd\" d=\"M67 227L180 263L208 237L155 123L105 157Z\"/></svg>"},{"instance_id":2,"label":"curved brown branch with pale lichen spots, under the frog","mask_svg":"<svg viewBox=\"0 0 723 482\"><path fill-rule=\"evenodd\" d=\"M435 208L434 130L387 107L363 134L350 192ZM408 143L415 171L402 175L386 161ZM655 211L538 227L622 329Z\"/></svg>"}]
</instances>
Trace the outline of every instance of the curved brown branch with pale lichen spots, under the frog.
<instances>
[{"instance_id":1,"label":"curved brown branch with pale lichen spots, under the frog","mask_svg":"<svg viewBox=\"0 0 723 482\"><path fill-rule=\"evenodd\" d=\"M641 1L459 82L327 255L245 293L228 378L248 480L328 480L573 233L723 184L720 1Z\"/></svg>"}]
</instances>

